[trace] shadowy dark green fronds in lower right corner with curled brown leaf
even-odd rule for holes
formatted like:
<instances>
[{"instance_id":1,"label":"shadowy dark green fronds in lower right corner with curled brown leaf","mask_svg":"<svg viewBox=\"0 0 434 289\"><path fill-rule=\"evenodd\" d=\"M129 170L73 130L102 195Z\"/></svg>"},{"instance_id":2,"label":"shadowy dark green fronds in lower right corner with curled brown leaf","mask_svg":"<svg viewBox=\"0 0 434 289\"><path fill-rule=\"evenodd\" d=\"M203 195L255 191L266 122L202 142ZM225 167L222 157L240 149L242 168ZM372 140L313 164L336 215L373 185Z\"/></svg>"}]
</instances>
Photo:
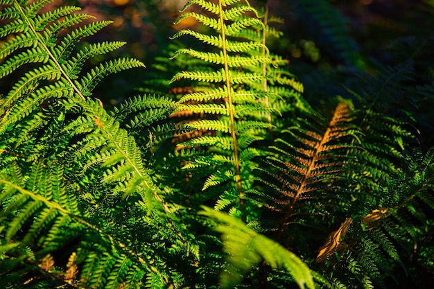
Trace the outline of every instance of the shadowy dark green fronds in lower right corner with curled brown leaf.
<instances>
[{"instance_id":1,"label":"shadowy dark green fronds in lower right corner with curled brown leaf","mask_svg":"<svg viewBox=\"0 0 434 289\"><path fill-rule=\"evenodd\" d=\"M377 204L376 209L365 214L361 211L361 221L353 222L351 232L337 240L341 246L339 257L327 256L325 250L333 247L328 242L317 261L329 257L330 268L347 277L356 277L361 286L382 287L385 277L398 282L395 274L408 274L407 266L413 263L412 257L408 259L408 252L417 256L417 261L426 263L424 252L433 249L422 233L430 229L429 216L434 211L432 168L432 149L425 155L419 150L406 155L399 170L391 173L389 183L381 186L388 200L374 194L372 202ZM433 267L428 266L427 270L432 273ZM347 286L352 288L354 284L347 283Z\"/></svg>"}]
</instances>

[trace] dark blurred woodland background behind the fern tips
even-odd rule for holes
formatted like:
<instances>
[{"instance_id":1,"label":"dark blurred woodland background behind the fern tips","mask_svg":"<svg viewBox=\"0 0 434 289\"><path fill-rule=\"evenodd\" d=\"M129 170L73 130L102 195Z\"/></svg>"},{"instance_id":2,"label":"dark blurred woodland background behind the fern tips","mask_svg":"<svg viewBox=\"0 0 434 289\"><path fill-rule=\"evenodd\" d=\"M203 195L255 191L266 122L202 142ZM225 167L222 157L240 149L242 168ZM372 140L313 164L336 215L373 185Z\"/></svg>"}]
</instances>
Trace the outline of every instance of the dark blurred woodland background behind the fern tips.
<instances>
[{"instance_id":1,"label":"dark blurred woodland background behind the fern tips","mask_svg":"<svg viewBox=\"0 0 434 289\"><path fill-rule=\"evenodd\" d=\"M85 11L114 21L105 33L98 34L98 40L125 40L128 44L116 53L143 60L148 67L148 75L132 69L103 80L98 89L107 105L135 94L136 87L154 78L152 67L157 57L168 55L175 28L195 25L186 20L173 26L186 1L78 2ZM284 37L271 40L268 46L290 60L290 71L304 84L304 96L310 103L336 95L352 97L349 90L377 97L376 103L386 103L392 114L415 116L423 148L434 144L432 1L270 0L269 4L272 15L284 19L279 26ZM372 81L384 83L390 71L396 72L395 78L408 77L388 80L398 86L396 94L377 96L379 91L374 90L378 87Z\"/></svg>"}]
</instances>

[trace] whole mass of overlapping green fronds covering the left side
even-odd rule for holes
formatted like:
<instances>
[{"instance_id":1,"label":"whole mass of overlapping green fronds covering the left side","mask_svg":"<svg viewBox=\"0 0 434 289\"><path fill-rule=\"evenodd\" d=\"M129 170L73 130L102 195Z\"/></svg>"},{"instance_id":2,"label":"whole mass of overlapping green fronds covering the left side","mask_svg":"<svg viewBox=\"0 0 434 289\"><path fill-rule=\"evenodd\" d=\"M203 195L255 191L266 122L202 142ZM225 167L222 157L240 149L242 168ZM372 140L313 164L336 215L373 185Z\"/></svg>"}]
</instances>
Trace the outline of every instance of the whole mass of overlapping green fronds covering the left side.
<instances>
[{"instance_id":1,"label":"whole mass of overlapping green fronds covering the left side","mask_svg":"<svg viewBox=\"0 0 434 289\"><path fill-rule=\"evenodd\" d=\"M92 67L124 43L78 43L110 21L80 26L92 17L69 6L40 11L49 2L1 2L1 77L15 76L0 108L1 278L14 288L151 286L146 278L177 287L182 277L166 270L173 252L162 243L188 263L198 249L151 177L149 135L165 133L155 123L174 102L137 96L107 112L92 99L98 82L144 65L121 58Z\"/></svg>"}]
</instances>

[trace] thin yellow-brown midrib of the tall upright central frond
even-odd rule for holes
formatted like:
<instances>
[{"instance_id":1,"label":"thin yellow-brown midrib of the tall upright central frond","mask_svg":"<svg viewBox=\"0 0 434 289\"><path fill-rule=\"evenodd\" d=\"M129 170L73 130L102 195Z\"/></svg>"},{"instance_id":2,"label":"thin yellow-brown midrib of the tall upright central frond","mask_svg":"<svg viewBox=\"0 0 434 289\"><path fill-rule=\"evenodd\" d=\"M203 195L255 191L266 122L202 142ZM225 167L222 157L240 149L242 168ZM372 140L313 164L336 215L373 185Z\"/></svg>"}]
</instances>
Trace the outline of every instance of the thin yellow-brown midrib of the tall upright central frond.
<instances>
[{"instance_id":1,"label":"thin yellow-brown midrib of the tall upright central frond","mask_svg":"<svg viewBox=\"0 0 434 289\"><path fill-rule=\"evenodd\" d=\"M229 59L227 55L227 47L226 47L226 33L225 33L225 20L223 19L223 4L222 0L218 0L218 8L219 8L219 17L220 17L220 27L221 27L221 35L222 35L222 51L223 51L223 60L225 67L225 82L227 87L227 105L229 110L229 119L231 122L231 136L232 142L234 143L234 162L235 162L235 179L236 179L236 188L238 190L239 195L239 204L240 210L242 213L242 218L244 219L244 193L243 193L243 184L241 182L241 171L240 171L240 162L238 159L238 145L237 145L237 137L235 130L235 116L234 116L234 104L232 103L232 85L231 80L229 78Z\"/></svg>"}]
</instances>

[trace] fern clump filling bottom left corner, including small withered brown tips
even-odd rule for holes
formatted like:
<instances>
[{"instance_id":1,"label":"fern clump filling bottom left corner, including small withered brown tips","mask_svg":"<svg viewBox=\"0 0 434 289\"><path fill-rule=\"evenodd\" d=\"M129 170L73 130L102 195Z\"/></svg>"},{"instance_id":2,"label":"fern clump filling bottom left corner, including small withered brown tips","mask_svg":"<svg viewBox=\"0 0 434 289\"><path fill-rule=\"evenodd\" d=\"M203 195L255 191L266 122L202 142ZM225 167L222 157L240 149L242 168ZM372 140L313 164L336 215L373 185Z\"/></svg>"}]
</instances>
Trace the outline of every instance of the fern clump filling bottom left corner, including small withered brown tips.
<instances>
[{"instance_id":1,"label":"fern clump filling bottom left corner, including small withered brown tips","mask_svg":"<svg viewBox=\"0 0 434 289\"><path fill-rule=\"evenodd\" d=\"M8 173L0 177L0 276L6 288L119 288L121 283L137 288L137 276L144 272L170 283L167 275L89 220L78 198L69 193L63 166L40 161L25 175L11 163ZM64 260L65 250L73 260Z\"/></svg>"}]
</instances>

